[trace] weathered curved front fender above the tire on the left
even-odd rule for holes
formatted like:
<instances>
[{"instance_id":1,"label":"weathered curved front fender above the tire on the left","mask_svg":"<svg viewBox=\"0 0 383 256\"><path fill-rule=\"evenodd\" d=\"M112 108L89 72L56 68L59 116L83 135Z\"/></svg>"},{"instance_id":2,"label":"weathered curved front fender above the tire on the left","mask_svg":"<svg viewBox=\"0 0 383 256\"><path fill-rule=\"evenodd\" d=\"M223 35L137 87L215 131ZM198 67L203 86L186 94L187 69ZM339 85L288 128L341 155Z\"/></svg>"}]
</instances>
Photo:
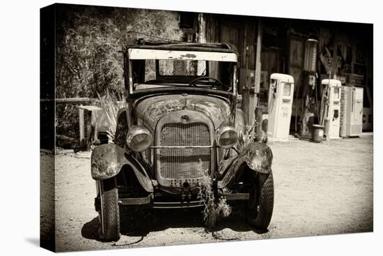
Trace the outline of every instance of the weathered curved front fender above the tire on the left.
<instances>
[{"instance_id":1,"label":"weathered curved front fender above the tire on the left","mask_svg":"<svg viewBox=\"0 0 383 256\"><path fill-rule=\"evenodd\" d=\"M153 192L153 184L145 168L125 149L116 144L102 144L92 151L91 174L96 181L116 176L124 165L132 167L144 190Z\"/></svg>"}]
</instances>

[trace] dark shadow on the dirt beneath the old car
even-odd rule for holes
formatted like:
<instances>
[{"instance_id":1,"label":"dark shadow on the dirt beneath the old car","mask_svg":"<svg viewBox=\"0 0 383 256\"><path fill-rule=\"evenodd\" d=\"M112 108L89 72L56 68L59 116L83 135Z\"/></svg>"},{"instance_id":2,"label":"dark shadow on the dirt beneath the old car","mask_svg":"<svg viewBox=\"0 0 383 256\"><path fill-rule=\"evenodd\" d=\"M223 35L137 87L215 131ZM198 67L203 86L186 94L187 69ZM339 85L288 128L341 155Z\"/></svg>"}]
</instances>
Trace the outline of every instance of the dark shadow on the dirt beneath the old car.
<instances>
[{"instance_id":1,"label":"dark shadow on the dirt beneath the old car","mask_svg":"<svg viewBox=\"0 0 383 256\"><path fill-rule=\"evenodd\" d=\"M196 232L212 233L214 239L219 240L238 240L225 239L217 232L222 229L231 229L235 232L253 231L257 234L264 234L266 231L253 229L246 223L243 214L240 211L234 211L228 218L221 219L213 229L207 229L203 224L203 215L201 209L177 209L177 210L160 210L160 209L138 209L136 211L120 212L120 232L125 236L141 236L139 243L150 232L163 231L169 228L197 228ZM100 228L98 217L85 223L81 229L81 235L86 239L102 241L98 236ZM134 244L131 243L131 244Z\"/></svg>"}]
</instances>

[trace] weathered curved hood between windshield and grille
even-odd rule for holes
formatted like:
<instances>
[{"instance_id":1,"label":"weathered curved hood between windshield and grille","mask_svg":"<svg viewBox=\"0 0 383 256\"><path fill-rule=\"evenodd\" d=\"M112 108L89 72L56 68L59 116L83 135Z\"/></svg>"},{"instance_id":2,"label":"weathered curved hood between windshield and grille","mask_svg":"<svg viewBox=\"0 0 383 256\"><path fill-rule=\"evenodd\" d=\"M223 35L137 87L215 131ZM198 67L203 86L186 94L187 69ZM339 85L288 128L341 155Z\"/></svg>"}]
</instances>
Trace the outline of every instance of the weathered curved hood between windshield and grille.
<instances>
[{"instance_id":1,"label":"weathered curved hood between windshield and grille","mask_svg":"<svg viewBox=\"0 0 383 256\"><path fill-rule=\"evenodd\" d=\"M208 116L214 128L230 118L230 105L214 96L172 94L153 96L141 100L136 106L136 113L150 128L155 129L162 116L178 110L193 110Z\"/></svg>"}]
</instances>

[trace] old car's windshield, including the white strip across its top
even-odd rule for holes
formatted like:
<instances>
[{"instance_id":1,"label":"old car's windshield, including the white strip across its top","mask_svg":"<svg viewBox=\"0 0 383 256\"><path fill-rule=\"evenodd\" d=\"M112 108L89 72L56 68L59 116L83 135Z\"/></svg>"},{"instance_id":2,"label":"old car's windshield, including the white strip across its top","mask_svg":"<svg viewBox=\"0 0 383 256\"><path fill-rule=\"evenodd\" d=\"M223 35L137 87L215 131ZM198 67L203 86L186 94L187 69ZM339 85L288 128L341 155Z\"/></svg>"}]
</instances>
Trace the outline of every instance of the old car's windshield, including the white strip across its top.
<instances>
[{"instance_id":1,"label":"old car's windshield, including the white strip across its top","mask_svg":"<svg viewBox=\"0 0 383 256\"><path fill-rule=\"evenodd\" d=\"M236 54L222 52L130 52L132 91L169 86L231 91L236 60Z\"/></svg>"}]
</instances>

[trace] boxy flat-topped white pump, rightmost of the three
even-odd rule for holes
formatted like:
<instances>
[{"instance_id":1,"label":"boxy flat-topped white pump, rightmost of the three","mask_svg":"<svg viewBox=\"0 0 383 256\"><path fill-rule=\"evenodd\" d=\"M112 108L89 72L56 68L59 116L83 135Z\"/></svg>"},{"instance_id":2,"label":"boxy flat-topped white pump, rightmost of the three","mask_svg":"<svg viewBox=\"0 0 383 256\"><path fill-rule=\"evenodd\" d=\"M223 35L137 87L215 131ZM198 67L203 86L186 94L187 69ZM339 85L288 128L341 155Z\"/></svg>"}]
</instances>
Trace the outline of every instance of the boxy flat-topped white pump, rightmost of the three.
<instances>
[{"instance_id":1,"label":"boxy flat-topped white pump, rightmost of the three","mask_svg":"<svg viewBox=\"0 0 383 256\"><path fill-rule=\"evenodd\" d=\"M363 88L344 86L346 136L361 135L363 128Z\"/></svg>"}]
</instances>

